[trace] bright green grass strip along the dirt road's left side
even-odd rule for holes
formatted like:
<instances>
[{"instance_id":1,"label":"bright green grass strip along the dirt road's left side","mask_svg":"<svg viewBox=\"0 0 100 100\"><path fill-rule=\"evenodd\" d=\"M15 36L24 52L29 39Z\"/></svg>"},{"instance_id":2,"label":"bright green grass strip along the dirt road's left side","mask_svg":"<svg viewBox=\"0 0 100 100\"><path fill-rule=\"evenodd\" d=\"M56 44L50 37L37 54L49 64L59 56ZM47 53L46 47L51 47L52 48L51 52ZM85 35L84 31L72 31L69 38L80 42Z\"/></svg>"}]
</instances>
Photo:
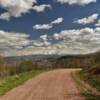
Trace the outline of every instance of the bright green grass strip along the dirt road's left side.
<instances>
[{"instance_id":1,"label":"bright green grass strip along the dirt road's left side","mask_svg":"<svg viewBox=\"0 0 100 100\"><path fill-rule=\"evenodd\" d=\"M23 72L18 75L11 76L0 82L0 95L4 95L12 88L23 84L28 79L44 72L44 70L32 70L30 72Z\"/></svg>"}]
</instances>

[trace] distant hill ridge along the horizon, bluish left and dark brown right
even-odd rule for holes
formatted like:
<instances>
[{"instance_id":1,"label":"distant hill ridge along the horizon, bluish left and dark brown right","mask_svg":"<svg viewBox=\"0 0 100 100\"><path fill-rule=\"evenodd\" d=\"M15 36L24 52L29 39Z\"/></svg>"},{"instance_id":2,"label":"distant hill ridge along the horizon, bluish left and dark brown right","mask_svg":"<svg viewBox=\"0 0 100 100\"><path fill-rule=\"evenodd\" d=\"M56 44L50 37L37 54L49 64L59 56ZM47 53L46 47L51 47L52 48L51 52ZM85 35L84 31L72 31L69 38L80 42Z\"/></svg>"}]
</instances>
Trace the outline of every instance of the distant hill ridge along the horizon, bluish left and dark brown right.
<instances>
[{"instance_id":1,"label":"distant hill ridge along the horizon, bluish left and dark brown right","mask_svg":"<svg viewBox=\"0 0 100 100\"><path fill-rule=\"evenodd\" d=\"M51 63L53 66L59 67L84 67L88 68L95 64L100 64L100 52L95 52L91 54L84 55L29 55L29 56L15 56L15 57L5 57L5 61L21 61L21 60L31 60L32 62L37 62L46 64Z\"/></svg>"}]
</instances>

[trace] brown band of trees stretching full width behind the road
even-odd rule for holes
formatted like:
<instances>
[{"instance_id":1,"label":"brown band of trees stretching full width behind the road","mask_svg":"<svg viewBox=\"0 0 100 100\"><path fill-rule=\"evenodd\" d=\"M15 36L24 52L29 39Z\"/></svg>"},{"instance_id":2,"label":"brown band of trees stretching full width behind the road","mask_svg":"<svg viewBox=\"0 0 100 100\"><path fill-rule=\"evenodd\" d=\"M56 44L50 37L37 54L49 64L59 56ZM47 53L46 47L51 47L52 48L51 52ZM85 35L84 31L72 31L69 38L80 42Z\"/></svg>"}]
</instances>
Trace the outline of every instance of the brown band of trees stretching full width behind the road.
<instances>
[{"instance_id":1,"label":"brown band of trees stretching full width behind the road","mask_svg":"<svg viewBox=\"0 0 100 100\"><path fill-rule=\"evenodd\" d=\"M100 52L88 55L70 55L59 58L7 62L0 58L0 77L11 76L32 69L84 68L100 64Z\"/></svg>"}]
</instances>

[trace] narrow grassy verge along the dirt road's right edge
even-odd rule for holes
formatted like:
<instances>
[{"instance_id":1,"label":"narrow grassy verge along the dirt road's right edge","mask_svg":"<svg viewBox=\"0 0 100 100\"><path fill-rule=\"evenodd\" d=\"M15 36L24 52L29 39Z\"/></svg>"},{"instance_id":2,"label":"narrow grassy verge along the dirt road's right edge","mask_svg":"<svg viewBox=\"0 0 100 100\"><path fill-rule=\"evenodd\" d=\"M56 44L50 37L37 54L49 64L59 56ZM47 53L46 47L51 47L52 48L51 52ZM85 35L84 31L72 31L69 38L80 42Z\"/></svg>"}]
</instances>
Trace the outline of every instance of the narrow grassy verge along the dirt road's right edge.
<instances>
[{"instance_id":1,"label":"narrow grassy verge along the dirt road's right edge","mask_svg":"<svg viewBox=\"0 0 100 100\"><path fill-rule=\"evenodd\" d=\"M80 73L74 73L73 79L75 80L76 84L78 84L81 93L86 98L86 100L100 100L100 95L92 93L92 91L88 89L86 85L82 82Z\"/></svg>"}]
</instances>

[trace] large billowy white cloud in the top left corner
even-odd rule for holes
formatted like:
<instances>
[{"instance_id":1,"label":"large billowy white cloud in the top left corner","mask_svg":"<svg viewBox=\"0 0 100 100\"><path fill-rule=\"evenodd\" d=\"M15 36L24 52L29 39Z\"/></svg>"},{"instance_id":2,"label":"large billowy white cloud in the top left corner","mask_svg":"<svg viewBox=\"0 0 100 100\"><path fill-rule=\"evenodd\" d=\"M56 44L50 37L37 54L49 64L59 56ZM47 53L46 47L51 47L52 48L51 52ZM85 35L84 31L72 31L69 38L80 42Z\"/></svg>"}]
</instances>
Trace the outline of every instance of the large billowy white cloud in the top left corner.
<instances>
[{"instance_id":1,"label":"large billowy white cloud in the top left corner","mask_svg":"<svg viewBox=\"0 0 100 100\"><path fill-rule=\"evenodd\" d=\"M7 10L9 16L13 17L19 17L29 12L34 3L36 3L36 0L0 0L0 6ZM8 19L8 17L6 18Z\"/></svg>"}]
</instances>

